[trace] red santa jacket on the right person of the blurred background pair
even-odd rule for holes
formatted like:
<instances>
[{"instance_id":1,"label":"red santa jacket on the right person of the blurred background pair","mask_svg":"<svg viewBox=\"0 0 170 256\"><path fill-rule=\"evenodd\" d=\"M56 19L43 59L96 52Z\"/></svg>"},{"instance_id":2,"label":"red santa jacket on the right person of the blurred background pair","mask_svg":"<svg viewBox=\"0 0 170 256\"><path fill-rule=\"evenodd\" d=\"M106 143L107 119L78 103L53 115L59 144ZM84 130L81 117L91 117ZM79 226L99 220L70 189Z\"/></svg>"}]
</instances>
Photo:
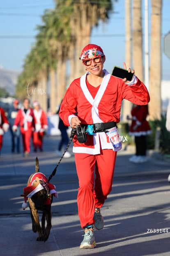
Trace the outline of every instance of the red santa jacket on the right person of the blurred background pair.
<instances>
[{"instance_id":1,"label":"red santa jacket on the right person of the blurred background pair","mask_svg":"<svg viewBox=\"0 0 170 256\"><path fill-rule=\"evenodd\" d=\"M44 132L44 130L48 129L46 113L42 109L39 109L39 111L34 109L33 112L35 117L35 132Z\"/></svg>"}]
</instances>

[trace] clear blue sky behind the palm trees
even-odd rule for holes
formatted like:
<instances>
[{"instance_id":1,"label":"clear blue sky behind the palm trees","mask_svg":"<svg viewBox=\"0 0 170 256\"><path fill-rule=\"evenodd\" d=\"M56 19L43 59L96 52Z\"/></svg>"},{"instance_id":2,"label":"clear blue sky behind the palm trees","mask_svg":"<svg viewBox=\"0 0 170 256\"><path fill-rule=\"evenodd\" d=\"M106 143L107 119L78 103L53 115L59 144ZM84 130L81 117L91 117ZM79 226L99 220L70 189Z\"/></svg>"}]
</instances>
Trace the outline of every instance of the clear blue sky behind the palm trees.
<instances>
[{"instance_id":1,"label":"clear blue sky behind the palm trees","mask_svg":"<svg viewBox=\"0 0 170 256\"><path fill-rule=\"evenodd\" d=\"M107 23L99 22L92 30L91 43L100 45L106 55L105 68L123 67L125 61L125 0L114 2L114 12ZM149 4L149 42L151 23ZM144 0L142 0L144 24ZM53 0L0 0L0 68L21 72L24 59L35 42L37 25L42 24L45 9L54 7ZM164 36L170 32L170 0L162 8L162 80L170 80L170 59L163 52ZM143 26L144 31L144 26ZM133 67L132 67L133 68Z\"/></svg>"}]
</instances>

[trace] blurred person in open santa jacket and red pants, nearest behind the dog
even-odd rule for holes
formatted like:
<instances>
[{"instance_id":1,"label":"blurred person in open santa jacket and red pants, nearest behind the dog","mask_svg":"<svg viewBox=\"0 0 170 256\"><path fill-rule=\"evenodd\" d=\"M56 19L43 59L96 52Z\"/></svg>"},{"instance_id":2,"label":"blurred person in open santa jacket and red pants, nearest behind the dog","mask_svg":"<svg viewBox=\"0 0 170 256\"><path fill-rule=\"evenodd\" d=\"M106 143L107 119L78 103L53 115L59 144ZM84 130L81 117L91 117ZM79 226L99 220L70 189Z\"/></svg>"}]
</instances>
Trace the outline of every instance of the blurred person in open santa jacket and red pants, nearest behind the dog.
<instances>
[{"instance_id":1,"label":"blurred person in open santa jacket and red pants, nearest behind the dog","mask_svg":"<svg viewBox=\"0 0 170 256\"><path fill-rule=\"evenodd\" d=\"M30 153L30 139L32 132L34 131L34 123L34 113L33 109L30 108L30 100L25 98L23 100L23 107L18 110L14 125L12 127L13 131L16 132L18 126L20 126L25 157L28 157Z\"/></svg>"}]
</instances>

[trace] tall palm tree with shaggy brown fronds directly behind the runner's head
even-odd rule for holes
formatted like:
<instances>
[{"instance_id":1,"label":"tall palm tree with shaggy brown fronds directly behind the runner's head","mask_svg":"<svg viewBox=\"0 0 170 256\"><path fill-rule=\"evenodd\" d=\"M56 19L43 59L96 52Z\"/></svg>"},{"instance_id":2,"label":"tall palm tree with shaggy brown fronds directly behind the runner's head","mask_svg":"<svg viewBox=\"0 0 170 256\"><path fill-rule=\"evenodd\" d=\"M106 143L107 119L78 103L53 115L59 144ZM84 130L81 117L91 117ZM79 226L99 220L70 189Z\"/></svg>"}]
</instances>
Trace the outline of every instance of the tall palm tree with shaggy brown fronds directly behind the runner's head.
<instances>
[{"instance_id":1,"label":"tall palm tree with shaggy brown fronds directly behind the runner's head","mask_svg":"<svg viewBox=\"0 0 170 256\"><path fill-rule=\"evenodd\" d=\"M75 77L79 77L84 73L79 57L83 47L90 43L92 27L97 26L100 19L106 21L110 10L112 10L111 0L80 0L74 3L74 22L71 25L72 31L74 31L73 35L76 38Z\"/></svg>"}]
</instances>

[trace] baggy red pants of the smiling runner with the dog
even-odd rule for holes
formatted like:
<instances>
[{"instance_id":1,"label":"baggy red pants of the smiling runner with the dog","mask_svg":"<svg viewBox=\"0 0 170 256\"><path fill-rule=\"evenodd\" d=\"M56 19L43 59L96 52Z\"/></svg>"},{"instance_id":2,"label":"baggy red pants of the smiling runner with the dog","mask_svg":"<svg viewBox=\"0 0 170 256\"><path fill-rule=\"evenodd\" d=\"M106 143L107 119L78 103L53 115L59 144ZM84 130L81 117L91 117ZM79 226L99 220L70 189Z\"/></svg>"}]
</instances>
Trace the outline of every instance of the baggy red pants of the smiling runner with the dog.
<instances>
[{"instance_id":1,"label":"baggy red pants of the smiling runner with the dog","mask_svg":"<svg viewBox=\"0 0 170 256\"><path fill-rule=\"evenodd\" d=\"M95 208L101 208L112 190L117 152L101 149L101 154L75 153L78 188L78 215L82 228L94 224ZM95 167L95 184L94 184Z\"/></svg>"}]
</instances>

